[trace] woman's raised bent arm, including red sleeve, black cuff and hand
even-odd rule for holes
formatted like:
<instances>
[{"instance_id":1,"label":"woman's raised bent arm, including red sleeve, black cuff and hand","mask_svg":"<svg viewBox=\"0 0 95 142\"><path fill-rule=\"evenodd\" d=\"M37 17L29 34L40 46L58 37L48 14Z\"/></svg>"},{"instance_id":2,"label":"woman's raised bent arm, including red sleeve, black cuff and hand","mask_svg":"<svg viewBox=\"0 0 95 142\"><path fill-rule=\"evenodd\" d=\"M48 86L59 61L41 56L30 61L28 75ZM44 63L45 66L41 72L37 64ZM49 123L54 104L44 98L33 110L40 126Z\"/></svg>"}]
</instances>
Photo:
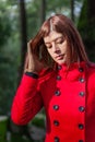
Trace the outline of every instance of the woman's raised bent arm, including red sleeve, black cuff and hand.
<instances>
[{"instance_id":1,"label":"woman's raised bent arm, including red sleeve, black cuff and hand","mask_svg":"<svg viewBox=\"0 0 95 142\"><path fill-rule=\"evenodd\" d=\"M13 99L11 118L16 125L26 125L43 107L43 99L38 91L38 79L35 78L44 69L44 63L35 55L32 40L27 44L25 74ZM26 74L26 71L31 74ZM36 75L32 75L35 74Z\"/></svg>"}]
</instances>

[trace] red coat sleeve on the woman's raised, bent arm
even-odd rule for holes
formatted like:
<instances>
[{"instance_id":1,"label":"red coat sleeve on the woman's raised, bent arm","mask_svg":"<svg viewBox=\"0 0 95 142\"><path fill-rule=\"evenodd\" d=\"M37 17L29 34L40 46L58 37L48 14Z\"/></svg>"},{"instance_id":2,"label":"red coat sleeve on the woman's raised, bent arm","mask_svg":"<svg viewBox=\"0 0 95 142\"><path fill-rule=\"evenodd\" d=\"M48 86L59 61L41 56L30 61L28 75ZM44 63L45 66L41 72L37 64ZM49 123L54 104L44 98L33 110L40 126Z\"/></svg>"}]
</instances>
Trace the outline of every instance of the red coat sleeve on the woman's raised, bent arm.
<instances>
[{"instance_id":1,"label":"red coat sleeve on the woman's raised, bent arm","mask_svg":"<svg viewBox=\"0 0 95 142\"><path fill-rule=\"evenodd\" d=\"M11 108L11 119L14 123L26 125L43 107L43 98L37 86L37 79L23 75Z\"/></svg>"}]
</instances>

